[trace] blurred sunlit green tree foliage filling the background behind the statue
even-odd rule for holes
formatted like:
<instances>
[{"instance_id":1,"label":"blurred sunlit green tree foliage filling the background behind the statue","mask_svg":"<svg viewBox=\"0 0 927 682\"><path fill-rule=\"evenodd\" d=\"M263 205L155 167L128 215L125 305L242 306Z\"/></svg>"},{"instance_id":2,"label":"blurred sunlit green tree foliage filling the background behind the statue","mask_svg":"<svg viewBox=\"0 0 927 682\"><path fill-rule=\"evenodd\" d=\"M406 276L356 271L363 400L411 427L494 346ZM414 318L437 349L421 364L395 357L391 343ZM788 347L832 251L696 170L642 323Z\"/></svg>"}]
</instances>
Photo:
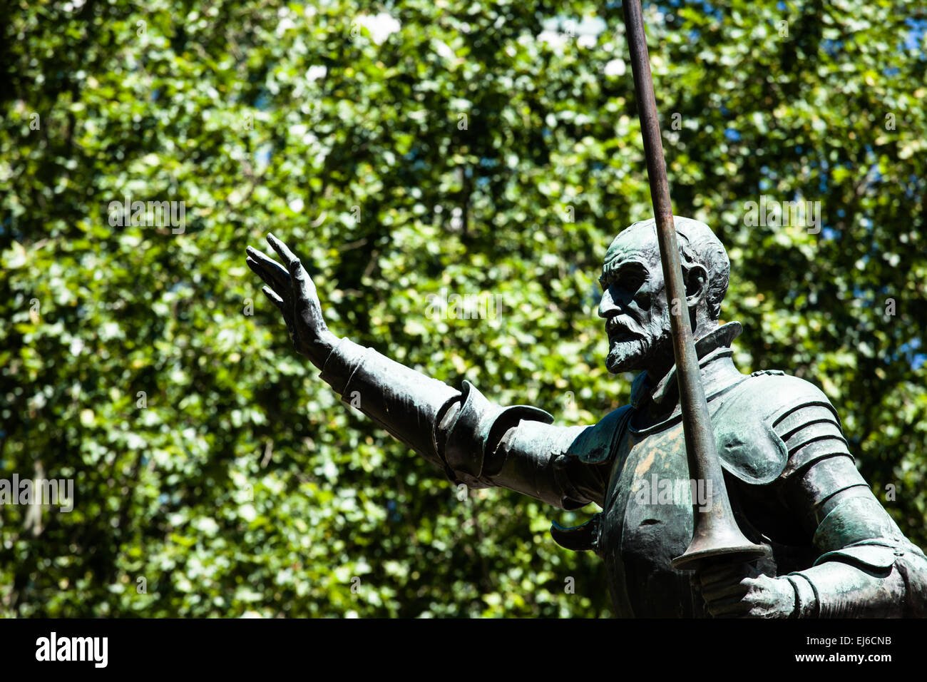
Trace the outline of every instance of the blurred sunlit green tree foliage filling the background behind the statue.
<instances>
[{"instance_id":1,"label":"blurred sunlit green tree foliage filling the background behind the statue","mask_svg":"<svg viewBox=\"0 0 927 682\"><path fill-rule=\"evenodd\" d=\"M601 259L652 215L620 4L4 6L0 478L75 500L0 508L0 615L609 614L599 560L547 534L595 509L459 499L292 351L244 249L294 247L338 335L594 423L629 395ZM730 252L735 360L827 392L927 545L923 8L645 18L674 212ZM823 228L747 225L764 195ZM185 225L113 225L127 199ZM496 319L427 315L442 288Z\"/></svg>"}]
</instances>

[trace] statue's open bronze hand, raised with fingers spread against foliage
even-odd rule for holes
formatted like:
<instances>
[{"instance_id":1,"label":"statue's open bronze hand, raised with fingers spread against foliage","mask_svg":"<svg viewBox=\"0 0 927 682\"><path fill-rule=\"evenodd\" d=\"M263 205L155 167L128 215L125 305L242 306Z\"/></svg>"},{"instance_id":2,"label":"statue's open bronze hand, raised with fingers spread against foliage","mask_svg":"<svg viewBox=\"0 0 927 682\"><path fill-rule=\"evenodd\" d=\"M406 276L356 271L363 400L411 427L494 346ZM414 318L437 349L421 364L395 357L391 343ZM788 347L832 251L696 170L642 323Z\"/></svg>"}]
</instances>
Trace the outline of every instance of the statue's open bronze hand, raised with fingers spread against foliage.
<instances>
[{"instance_id":1,"label":"statue's open bronze hand, raised with fingers spread against foliage","mask_svg":"<svg viewBox=\"0 0 927 682\"><path fill-rule=\"evenodd\" d=\"M267 243L286 267L251 247L248 247L246 263L264 280L264 295L284 315L290 341L293 341L297 353L305 355L313 365L321 368L338 340L325 324L315 284L286 244L272 234L267 235Z\"/></svg>"}]
</instances>

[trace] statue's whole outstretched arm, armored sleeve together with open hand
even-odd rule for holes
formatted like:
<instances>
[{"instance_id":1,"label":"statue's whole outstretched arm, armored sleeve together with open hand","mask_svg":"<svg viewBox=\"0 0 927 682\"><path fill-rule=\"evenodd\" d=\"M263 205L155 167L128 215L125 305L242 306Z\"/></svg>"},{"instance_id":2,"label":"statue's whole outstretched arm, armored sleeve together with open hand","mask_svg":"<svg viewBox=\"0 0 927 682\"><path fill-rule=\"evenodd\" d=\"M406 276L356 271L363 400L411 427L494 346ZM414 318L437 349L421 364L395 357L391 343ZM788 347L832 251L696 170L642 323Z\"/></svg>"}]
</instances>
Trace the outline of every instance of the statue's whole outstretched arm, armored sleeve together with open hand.
<instances>
[{"instance_id":1,"label":"statue's whole outstretched arm, armored sleeve together with open hand","mask_svg":"<svg viewBox=\"0 0 927 682\"><path fill-rule=\"evenodd\" d=\"M273 235L267 240L286 268L251 247L248 266L266 283L263 291L284 315L297 352L322 370L342 402L445 470L454 483L502 486L561 508L596 500L603 483L594 476L583 483L584 471L567 456L586 427L551 426L551 415L538 407L493 405L469 381L458 391L373 348L339 339L325 325L298 257Z\"/></svg>"}]
</instances>

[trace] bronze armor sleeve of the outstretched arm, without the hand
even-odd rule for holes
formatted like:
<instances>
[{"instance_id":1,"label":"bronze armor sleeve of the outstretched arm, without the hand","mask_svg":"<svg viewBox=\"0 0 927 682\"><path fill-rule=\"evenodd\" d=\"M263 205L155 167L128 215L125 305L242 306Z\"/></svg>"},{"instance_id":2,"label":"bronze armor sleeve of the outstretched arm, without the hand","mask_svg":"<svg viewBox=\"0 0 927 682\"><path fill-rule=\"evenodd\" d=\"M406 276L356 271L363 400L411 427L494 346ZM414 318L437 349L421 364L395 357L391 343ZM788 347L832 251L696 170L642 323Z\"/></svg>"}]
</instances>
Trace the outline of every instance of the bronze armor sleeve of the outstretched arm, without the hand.
<instances>
[{"instance_id":1,"label":"bronze armor sleeve of the outstretched arm, without the hand","mask_svg":"<svg viewBox=\"0 0 927 682\"><path fill-rule=\"evenodd\" d=\"M560 508L601 497L604 483L580 482L584 468L567 457L586 427L552 426L551 415L531 405L493 405L469 381L458 391L348 339L321 376L454 483L507 487Z\"/></svg>"}]
</instances>

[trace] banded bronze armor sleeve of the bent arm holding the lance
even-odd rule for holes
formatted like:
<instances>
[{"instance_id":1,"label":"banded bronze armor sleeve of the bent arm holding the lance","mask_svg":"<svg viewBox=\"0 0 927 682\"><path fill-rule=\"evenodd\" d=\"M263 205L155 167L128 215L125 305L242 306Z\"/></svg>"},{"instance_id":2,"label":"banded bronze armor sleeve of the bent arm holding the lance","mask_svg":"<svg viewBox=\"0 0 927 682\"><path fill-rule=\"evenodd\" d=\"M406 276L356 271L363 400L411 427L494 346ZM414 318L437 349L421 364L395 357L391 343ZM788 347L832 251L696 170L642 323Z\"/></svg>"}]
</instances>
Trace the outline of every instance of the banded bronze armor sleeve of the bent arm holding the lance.
<instances>
[{"instance_id":1,"label":"banded bronze armor sleeve of the bent arm holding the lance","mask_svg":"<svg viewBox=\"0 0 927 682\"><path fill-rule=\"evenodd\" d=\"M800 399L773 420L788 450L783 501L819 552L811 568L784 576L794 587L795 615L927 615L927 557L860 476L827 397L801 383Z\"/></svg>"}]
</instances>

